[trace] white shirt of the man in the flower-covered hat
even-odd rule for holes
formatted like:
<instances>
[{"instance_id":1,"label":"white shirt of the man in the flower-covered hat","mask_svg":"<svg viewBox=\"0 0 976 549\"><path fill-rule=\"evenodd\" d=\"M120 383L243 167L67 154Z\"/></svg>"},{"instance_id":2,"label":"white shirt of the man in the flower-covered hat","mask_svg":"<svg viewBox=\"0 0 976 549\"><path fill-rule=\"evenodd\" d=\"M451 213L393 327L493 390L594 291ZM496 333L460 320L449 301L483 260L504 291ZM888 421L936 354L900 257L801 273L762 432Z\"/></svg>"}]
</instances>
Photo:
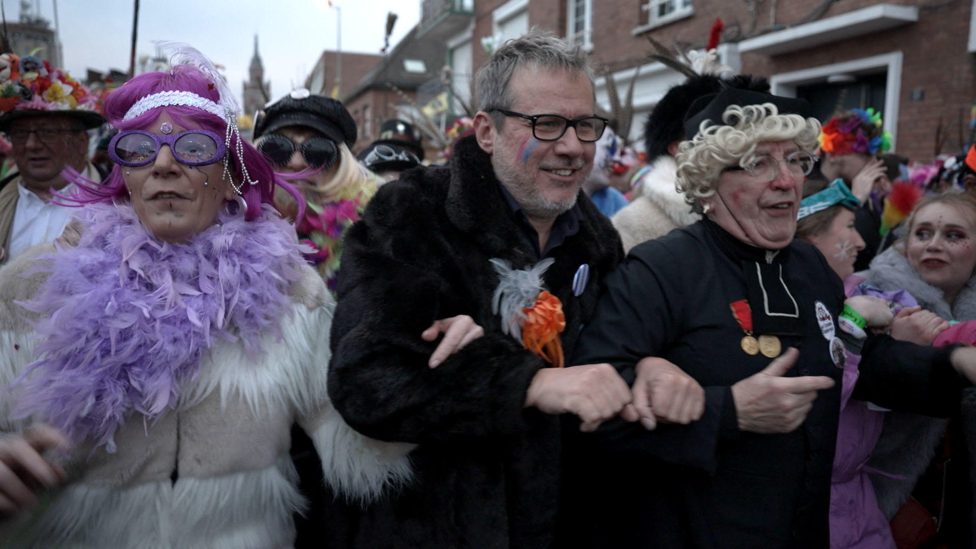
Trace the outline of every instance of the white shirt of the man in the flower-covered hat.
<instances>
[{"instance_id":1,"label":"white shirt of the man in the flower-covered hat","mask_svg":"<svg viewBox=\"0 0 976 549\"><path fill-rule=\"evenodd\" d=\"M88 174L89 168L86 166L81 175L89 178ZM67 194L72 189L74 184L68 184L58 192ZM32 190L24 187L20 178L17 180L17 192L19 196L17 208L14 210L14 225L10 232L8 259L16 258L41 242L53 242L61 236L61 232L64 232L67 223L71 221L71 216L77 211L76 208L42 200Z\"/></svg>"}]
</instances>

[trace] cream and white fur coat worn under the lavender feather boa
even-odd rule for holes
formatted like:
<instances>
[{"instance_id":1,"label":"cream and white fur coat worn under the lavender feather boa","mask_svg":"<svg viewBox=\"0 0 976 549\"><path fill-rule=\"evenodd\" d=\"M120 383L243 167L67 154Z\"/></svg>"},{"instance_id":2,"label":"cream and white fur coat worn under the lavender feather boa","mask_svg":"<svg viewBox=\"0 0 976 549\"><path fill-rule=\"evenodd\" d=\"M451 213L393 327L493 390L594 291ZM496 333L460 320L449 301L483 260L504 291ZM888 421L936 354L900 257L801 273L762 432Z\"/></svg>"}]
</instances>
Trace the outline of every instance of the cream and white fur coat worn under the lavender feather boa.
<instances>
[{"instance_id":1,"label":"cream and white fur coat worn under the lavender feather boa","mask_svg":"<svg viewBox=\"0 0 976 549\"><path fill-rule=\"evenodd\" d=\"M50 251L50 245L38 246ZM3 392L33 359L28 316L14 300L41 277L21 274L37 252L0 270L0 429L19 431ZM0 546L271 549L291 547L292 513L305 506L288 451L298 422L325 480L353 500L376 498L410 477L412 444L368 439L346 425L326 392L334 302L310 268L292 291L280 340L253 358L220 343L155 424L138 416L114 454L81 444L61 458L68 482L35 513L0 522Z\"/></svg>"}]
</instances>

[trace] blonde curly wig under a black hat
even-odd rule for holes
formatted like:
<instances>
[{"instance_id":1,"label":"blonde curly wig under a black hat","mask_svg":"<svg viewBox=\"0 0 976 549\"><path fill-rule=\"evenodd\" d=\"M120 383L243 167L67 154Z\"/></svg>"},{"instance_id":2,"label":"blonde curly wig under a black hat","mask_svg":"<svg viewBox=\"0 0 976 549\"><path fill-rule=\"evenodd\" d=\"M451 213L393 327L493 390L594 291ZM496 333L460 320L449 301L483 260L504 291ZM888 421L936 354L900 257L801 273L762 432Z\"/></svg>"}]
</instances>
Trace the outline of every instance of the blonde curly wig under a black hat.
<instances>
[{"instance_id":1,"label":"blonde curly wig under a black hat","mask_svg":"<svg viewBox=\"0 0 976 549\"><path fill-rule=\"evenodd\" d=\"M780 114L771 104L729 106L722 113L724 125L705 120L691 141L678 146L677 190L692 208L702 213L701 198L711 196L718 187L722 169L752 160L760 143L792 140L801 150L817 148L820 122L799 114Z\"/></svg>"}]
</instances>

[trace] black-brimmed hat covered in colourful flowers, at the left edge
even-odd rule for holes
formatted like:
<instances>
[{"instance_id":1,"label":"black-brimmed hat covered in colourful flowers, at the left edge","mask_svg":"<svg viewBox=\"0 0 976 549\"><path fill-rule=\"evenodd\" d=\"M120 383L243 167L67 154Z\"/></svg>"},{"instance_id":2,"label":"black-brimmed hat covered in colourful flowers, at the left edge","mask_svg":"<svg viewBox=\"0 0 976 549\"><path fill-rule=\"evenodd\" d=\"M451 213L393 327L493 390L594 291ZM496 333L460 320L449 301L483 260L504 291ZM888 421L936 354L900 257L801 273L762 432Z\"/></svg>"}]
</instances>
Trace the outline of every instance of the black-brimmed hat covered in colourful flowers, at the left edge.
<instances>
[{"instance_id":1,"label":"black-brimmed hat covered in colourful flowers, at the left edge","mask_svg":"<svg viewBox=\"0 0 976 549\"><path fill-rule=\"evenodd\" d=\"M36 56L0 55L0 131L26 116L64 114L97 128L105 119L98 96Z\"/></svg>"}]
</instances>

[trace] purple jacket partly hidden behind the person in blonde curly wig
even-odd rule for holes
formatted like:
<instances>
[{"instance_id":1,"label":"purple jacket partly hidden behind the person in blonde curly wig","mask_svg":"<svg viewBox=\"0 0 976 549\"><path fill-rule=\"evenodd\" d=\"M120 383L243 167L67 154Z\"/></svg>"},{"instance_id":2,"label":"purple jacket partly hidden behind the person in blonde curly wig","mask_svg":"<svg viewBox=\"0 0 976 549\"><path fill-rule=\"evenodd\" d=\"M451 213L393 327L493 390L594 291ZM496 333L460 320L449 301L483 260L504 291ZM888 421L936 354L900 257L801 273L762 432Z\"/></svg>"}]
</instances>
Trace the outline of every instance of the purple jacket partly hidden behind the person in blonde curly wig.
<instances>
[{"instance_id":1,"label":"purple jacket partly hidden behind the person in blonde curly wig","mask_svg":"<svg viewBox=\"0 0 976 549\"><path fill-rule=\"evenodd\" d=\"M863 281L863 276L848 276L844 280L844 294L847 297L870 295L893 302L896 313L899 308L917 305L906 291L881 291L862 284ZM844 364L831 477L831 549L895 549L891 528L877 507L874 486L868 477L871 473L883 473L866 465L881 435L884 412L870 409L867 402L851 400L860 362L860 356L848 353Z\"/></svg>"}]
</instances>

